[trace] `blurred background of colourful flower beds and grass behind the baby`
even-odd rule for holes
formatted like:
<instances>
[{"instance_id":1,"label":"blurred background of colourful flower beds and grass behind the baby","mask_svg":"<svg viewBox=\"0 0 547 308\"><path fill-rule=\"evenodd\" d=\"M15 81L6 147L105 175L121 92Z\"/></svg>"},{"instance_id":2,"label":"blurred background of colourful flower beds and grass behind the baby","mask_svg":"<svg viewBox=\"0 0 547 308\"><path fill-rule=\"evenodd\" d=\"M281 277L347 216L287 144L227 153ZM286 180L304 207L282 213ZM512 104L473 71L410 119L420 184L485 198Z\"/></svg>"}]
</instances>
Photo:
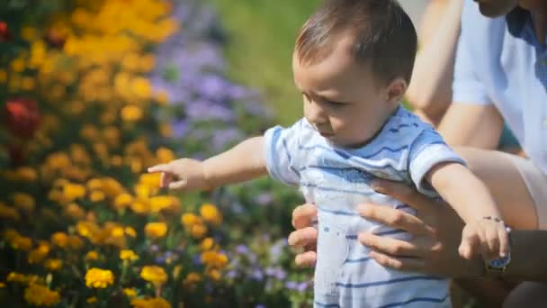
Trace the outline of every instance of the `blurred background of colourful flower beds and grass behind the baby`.
<instances>
[{"instance_id":1,"label":"blurred background of colourful flower beds and grass behind the baby","mask_svg":"<svg viewBox=\"0 0 547 308\"><path fill-rule=\"evenodd\" d=\"M405 1L419 19L426 1ZM291 187L169 194L202 159L301 113L291 77L318 4L7 0L0 7L0 303L310 307Z\"/></svg>"}]
</instances>

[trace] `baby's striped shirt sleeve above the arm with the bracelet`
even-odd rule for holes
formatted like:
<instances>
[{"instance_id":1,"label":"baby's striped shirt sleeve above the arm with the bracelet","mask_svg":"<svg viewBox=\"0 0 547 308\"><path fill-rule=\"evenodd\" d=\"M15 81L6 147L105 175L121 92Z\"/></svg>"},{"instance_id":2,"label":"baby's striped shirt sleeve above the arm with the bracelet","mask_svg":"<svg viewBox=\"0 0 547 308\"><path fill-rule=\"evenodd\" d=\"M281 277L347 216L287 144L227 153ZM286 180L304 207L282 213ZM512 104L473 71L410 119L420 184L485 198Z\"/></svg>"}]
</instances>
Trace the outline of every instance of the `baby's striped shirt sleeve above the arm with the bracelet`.
<instances>
[{"instance_id":1,"label":"baby's striped shirt sleeve above the arm with the bracelet","mask_svg":"<svg viewBox=\"0 0 547 308\"><path fill-rule=\"evenodd\" d=\"M426 175L435 165L455 162L466 165L443 140L441 135L429 129L423 131L412 143L408 155L408 171L417 190L428 196L438 196L435 189L426 182Z\"/></svg>"}]
</instances>

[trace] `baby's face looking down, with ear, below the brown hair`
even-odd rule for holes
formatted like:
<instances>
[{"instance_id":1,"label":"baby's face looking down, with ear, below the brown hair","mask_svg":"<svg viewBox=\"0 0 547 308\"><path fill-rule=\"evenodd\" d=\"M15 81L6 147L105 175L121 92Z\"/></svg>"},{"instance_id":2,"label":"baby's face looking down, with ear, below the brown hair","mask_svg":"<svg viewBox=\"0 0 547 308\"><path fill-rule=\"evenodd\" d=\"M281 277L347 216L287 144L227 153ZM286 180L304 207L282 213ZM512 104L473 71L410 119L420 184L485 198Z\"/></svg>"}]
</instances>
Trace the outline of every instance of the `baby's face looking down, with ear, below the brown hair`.
<instances>
[{"instance_id":1,"label":"baby's face looking down, with ear, below the brown hair","mask_svg":"<svg viewBox=\"0 0 547 308\"><path fill-rule=\"evenodd\" d=\"M350 41L337 41L336 48L317 64L302 66L292 59L294 82L304 101L304 116L327 140L342 147L358 147L381 129L406 90L381 86L369 65L352 59ZM397 92L400 93L397 93Z\"/></svg>"}]
</instances>

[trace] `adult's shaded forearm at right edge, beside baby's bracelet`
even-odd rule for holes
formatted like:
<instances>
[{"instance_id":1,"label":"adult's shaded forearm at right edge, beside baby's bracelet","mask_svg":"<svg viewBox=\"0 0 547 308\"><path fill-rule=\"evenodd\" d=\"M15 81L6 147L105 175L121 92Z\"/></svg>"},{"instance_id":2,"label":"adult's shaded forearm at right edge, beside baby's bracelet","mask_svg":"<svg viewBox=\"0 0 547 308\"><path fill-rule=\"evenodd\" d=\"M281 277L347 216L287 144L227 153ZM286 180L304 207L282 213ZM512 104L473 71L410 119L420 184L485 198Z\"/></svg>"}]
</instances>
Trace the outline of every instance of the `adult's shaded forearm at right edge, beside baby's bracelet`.
<instances>
[{"instance_id":1,"label":"adult's shaded forearm at right edge, beside baby's bracelet","mask_svg":"<svg viewBox=\"0 0 547 308\"><path fill-rule=\"evenodd\" d=\"M547 282L547 231L512 231L511 263L505 276Z\"/></svg>"}]
</instances>

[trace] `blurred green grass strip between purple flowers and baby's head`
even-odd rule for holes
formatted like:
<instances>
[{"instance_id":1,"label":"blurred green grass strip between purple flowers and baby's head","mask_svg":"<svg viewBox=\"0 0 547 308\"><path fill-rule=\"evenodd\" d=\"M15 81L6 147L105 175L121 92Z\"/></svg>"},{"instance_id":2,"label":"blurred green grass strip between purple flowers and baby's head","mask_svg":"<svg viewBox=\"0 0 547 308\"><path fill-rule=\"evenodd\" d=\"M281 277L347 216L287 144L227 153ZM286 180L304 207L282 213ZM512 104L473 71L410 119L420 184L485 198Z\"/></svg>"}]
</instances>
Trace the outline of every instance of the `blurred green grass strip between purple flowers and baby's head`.
<instances>
[{"instance_id":1,"label":"blurred green grass strip between purple flowers and baby's head","mask_svg":"<svg viewBox=\"0 0 547 308\"><path fill-rule=\"evenodd\" d=\"M232 80L259 89L283 125L302 114L292 83L291 54L302 23L318 0L211 0L228 32Z\"/></svg>"}]
</instances>

